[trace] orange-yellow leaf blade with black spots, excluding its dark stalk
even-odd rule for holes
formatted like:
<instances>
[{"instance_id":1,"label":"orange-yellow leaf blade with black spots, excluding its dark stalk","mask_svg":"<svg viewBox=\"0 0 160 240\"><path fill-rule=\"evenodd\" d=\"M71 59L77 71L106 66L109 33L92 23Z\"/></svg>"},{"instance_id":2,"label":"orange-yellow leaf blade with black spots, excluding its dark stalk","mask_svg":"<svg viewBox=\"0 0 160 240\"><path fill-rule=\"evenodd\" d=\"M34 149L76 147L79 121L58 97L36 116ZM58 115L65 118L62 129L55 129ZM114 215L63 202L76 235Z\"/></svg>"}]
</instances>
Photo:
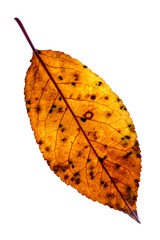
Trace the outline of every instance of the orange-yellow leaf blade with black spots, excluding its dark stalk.
<instances>
[{"instance_id":1,"label":"orange-yellow leaf blade with black spots, excluding its dark stalk","mask_svg":"<svg viewBox=\"0 0 160 240\"><path fill-rule=\"evenodd\" d=\"M136 212L141 155L126 106L78 60L51 50L39 54L63 94L33 54L25 101L44 159L81 194L132 215L128 206Z\"/></svg>"}]
</instances>

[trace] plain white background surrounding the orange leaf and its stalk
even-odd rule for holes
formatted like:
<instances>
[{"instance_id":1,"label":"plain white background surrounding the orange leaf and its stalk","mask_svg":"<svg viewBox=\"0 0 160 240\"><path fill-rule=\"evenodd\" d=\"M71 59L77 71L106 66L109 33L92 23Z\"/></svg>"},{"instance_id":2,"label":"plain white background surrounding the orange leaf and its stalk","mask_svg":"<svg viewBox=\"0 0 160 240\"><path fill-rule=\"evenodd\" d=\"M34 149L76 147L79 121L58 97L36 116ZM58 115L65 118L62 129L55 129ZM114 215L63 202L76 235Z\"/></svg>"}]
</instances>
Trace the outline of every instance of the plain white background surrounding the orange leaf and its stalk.
<instances>
[{"instance_id":1,"label":"plain white background surrounding the orange leaf and its stalk","mask_svg":"<svg viewBox=\"0 0 160 240\"><path fill-rule=\"evenodd\" d=\"M50 171L24 103L32 50L68 53L122 98L142 150L138 224L92 202ZM160 239L160 1L0 3L0 239Z\"/></svg>"}]
</instances>

